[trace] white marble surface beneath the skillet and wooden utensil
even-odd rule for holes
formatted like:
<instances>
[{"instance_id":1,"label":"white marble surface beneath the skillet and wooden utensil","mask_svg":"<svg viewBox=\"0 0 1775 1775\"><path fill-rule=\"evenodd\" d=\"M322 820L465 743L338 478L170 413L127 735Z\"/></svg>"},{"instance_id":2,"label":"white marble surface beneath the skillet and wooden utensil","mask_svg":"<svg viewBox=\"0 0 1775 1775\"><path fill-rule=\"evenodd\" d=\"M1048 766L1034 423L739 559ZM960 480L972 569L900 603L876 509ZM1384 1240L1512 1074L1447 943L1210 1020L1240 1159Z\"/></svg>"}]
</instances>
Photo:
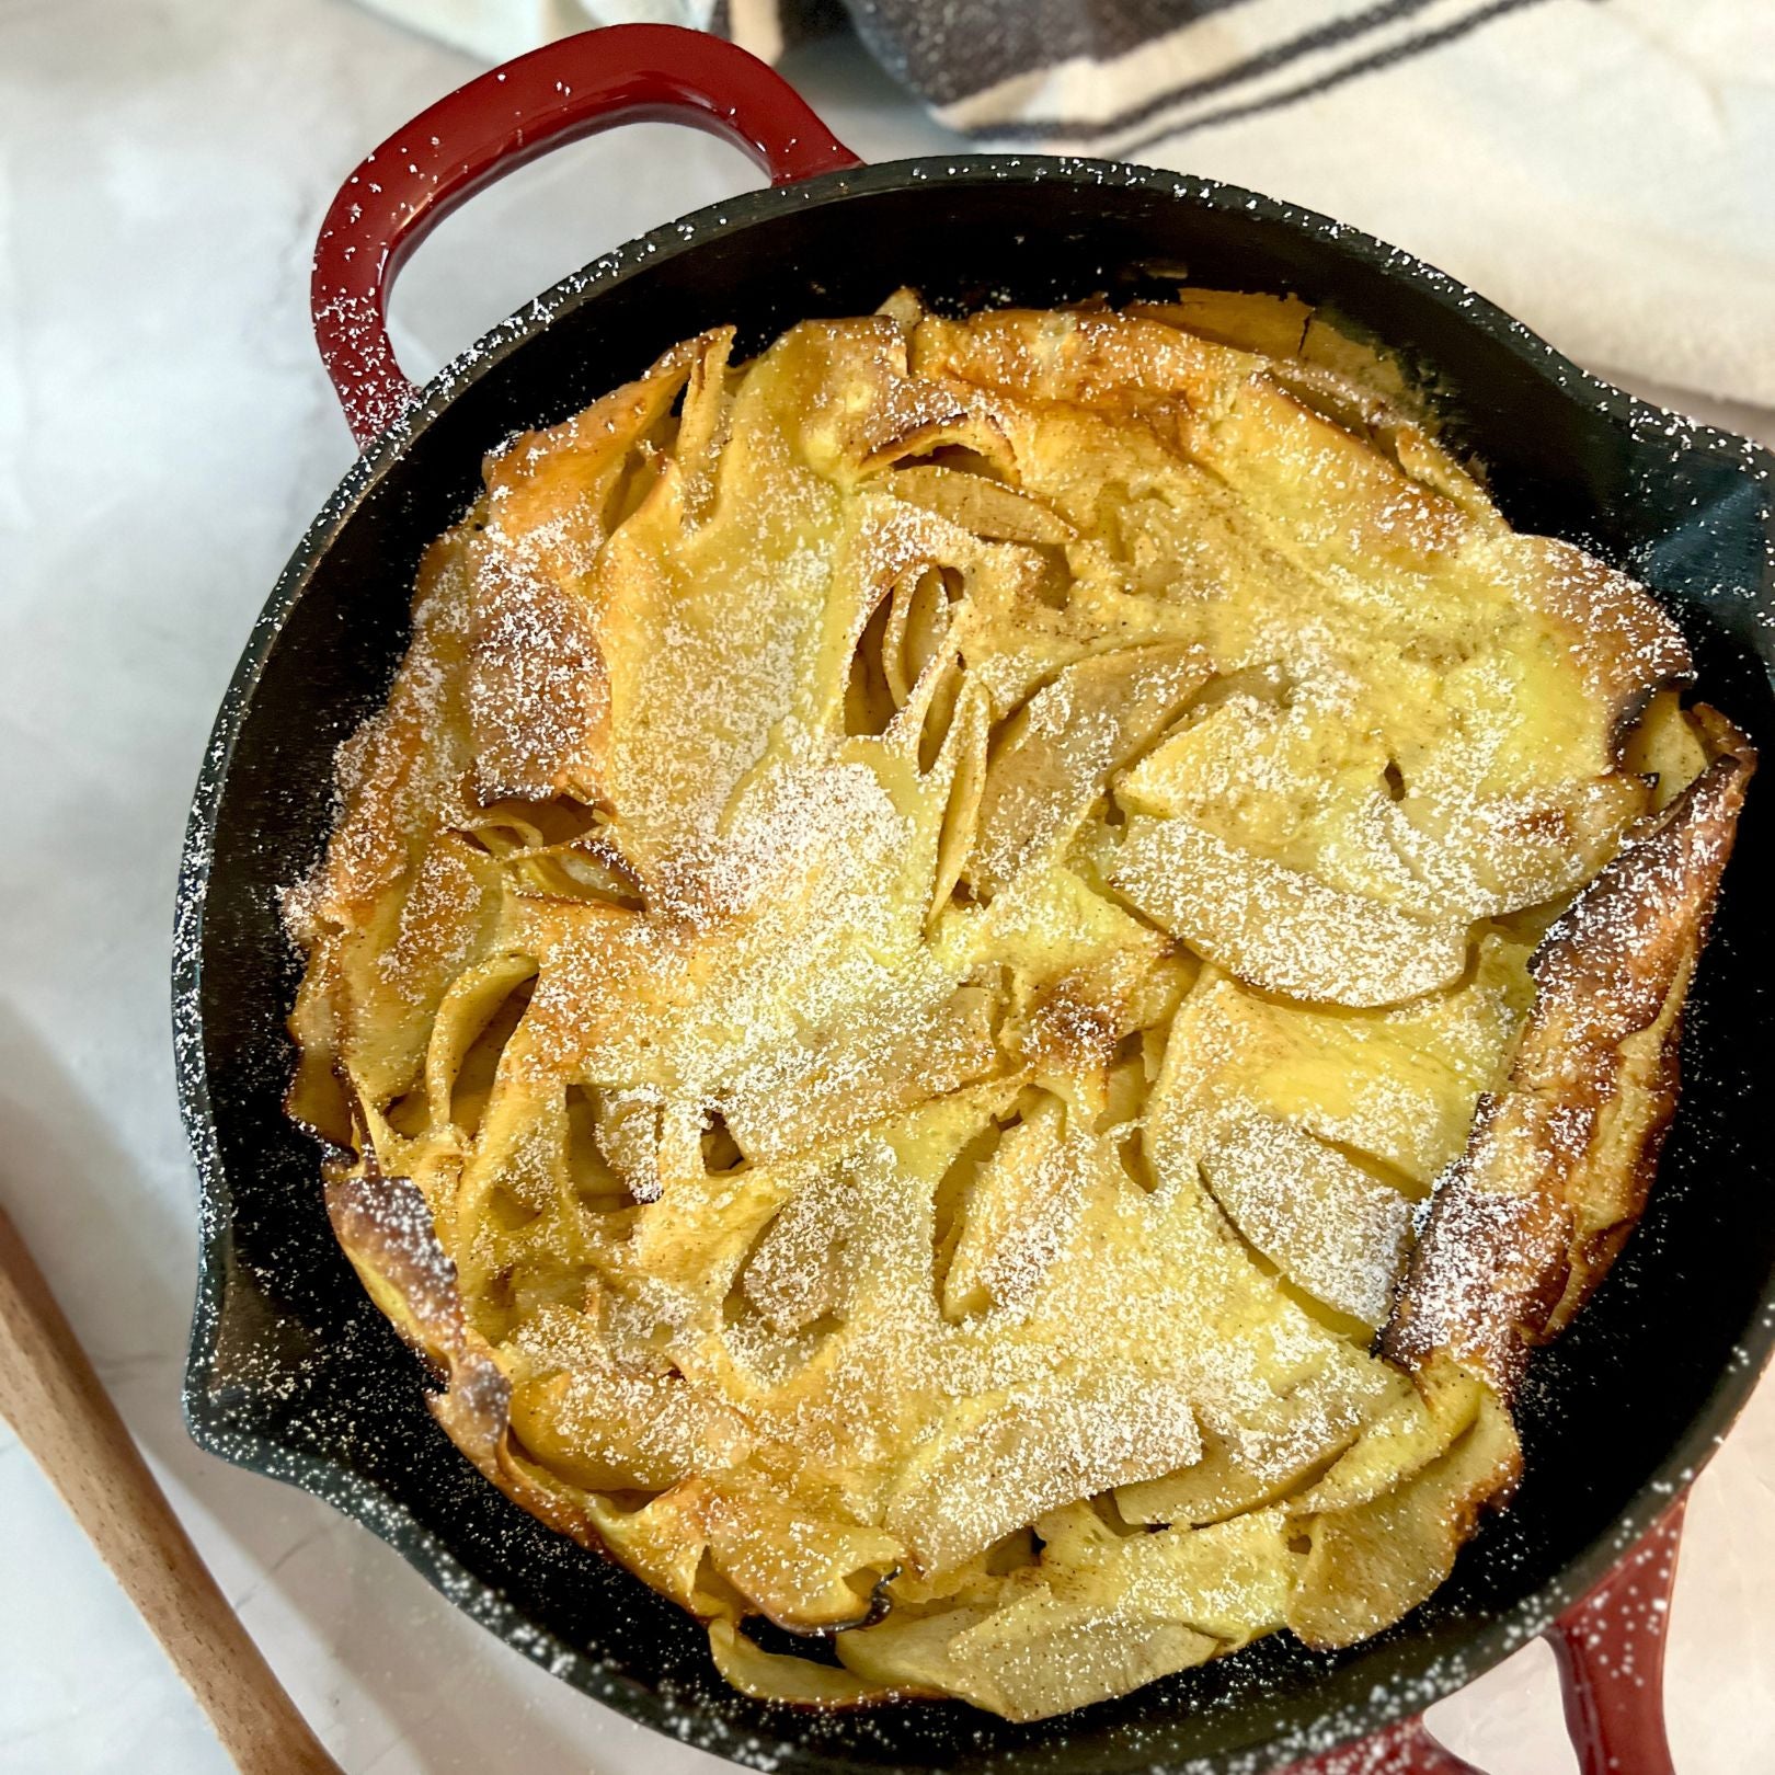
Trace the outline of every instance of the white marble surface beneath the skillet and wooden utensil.
<instances>
[{"instance_id":1,"label":"white marble surface beneath the skillet and wooden utensil","mask_svg":"<svg viewBox=\"0 0 1775 1775\"><path fill-rule=\"evenodd\" d=\"M193 1196L165 982L185 806L252 616L351 454L307 334L318 217L362 149L469 73L337 0L0 0L0 1200L351 1775L689 1775L717 1764L509 1653L314 1500L199 1454L178 1411ZM943 146L854 53L792 73L872 158ZM731 151L659 126L529 169L415 259L410 367L747 183ZM1775 437L1766 414L1709 417ZM1690 1511L1683 1775L1770 1766L1771 1582L1766 1383ZM1491 1775L1574 1766L1539 1647L1432 1722ZM224 1766L4 1429L0 1766Z\"/></svg>"}]
</instances>

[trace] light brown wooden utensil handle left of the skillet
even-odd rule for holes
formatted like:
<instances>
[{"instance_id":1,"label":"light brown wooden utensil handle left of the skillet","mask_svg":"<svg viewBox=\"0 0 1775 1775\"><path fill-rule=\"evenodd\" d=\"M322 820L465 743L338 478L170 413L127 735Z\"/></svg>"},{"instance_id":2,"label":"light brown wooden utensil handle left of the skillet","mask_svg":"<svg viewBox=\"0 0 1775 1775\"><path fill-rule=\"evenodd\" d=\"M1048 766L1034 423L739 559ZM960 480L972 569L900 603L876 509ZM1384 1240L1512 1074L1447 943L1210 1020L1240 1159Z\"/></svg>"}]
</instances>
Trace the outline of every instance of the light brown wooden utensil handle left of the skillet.
<instances>
[{"instance_id":1,"label":"light brown wooden utensil handle left of the skillet","mask_svg":"<svg viewBox=\"0 0 1775 1775\"><path fill-rule=\"evenodd\" d=\"M0 1416L36 1456L245 1775L339 1775L197 1557L0 1212Z\"/></svg>"}]
</instances>

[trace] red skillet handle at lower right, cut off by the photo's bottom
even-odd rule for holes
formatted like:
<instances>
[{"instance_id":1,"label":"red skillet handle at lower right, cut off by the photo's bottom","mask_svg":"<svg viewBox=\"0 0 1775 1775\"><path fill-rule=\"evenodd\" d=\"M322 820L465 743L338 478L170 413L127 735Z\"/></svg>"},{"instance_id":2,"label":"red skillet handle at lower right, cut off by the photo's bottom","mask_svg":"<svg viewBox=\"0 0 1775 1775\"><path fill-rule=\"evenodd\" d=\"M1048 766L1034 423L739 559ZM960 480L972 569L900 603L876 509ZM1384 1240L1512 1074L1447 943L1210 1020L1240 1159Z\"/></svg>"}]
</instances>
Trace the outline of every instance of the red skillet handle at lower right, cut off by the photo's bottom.
<instances>
[{"instance_id":1,"label":"red skillet handle at lower right, cut off by the photo's bottom","mask_svg":"<svg viewBox=\"0 0 1775 1775\"><path fill-rule=\"evenodd\" d=\"M1580 1775L1676 1775L1663 1720L1663 1653L1676 1585L1683 1500L1548 1631L1566 1695L1566 1727ZM1285 1775L1482 1775L1400 1720Z\"/></svg>"}]
</instances>

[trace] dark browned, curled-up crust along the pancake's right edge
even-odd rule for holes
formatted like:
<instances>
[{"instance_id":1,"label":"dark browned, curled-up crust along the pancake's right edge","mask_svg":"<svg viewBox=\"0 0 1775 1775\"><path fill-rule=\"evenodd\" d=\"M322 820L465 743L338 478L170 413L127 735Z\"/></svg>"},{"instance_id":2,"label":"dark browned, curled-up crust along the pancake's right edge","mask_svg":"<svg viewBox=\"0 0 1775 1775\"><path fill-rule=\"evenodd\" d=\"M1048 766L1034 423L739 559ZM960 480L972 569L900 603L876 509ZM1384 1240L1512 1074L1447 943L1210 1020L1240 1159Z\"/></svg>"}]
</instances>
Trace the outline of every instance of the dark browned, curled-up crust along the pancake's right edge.
<instances>
[{"instance_id":1,"label":"dark browned, curled-up crust along the pancake's right edge","mask_svg":"<svg viewBox=\"0 0 1775 1775\"><path fill-rule=\"evenodd\" d=\"M1436 1189L1383 1354L1447 1351L1509 1400L1638 1221L1677 1099L1683 998L1732 850L1750 742L1697 706L1713 761L1553 925L1503 1090Z\"/></svg>"}]
</instances>

